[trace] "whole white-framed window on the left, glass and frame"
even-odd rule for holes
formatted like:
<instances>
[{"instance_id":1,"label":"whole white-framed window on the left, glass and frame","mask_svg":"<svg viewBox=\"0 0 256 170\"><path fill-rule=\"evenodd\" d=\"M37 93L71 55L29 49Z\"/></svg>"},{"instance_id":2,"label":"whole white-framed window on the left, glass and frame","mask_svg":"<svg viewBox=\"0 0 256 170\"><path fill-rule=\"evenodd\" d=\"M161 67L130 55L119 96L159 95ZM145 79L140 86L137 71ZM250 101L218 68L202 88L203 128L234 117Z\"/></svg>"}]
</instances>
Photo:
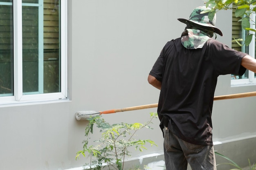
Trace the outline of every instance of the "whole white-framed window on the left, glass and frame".
<instances>
[{"instance_id":1,"label":"whole white-framed window on the left, glass and frame","mask_svg":"<svg viewBox=\"0 0 256 170\"><path fill-rule=\"evenodd\" d=\"M0 0L0 102L66 97L66 0Z\"/></svg>"}]
</instances>

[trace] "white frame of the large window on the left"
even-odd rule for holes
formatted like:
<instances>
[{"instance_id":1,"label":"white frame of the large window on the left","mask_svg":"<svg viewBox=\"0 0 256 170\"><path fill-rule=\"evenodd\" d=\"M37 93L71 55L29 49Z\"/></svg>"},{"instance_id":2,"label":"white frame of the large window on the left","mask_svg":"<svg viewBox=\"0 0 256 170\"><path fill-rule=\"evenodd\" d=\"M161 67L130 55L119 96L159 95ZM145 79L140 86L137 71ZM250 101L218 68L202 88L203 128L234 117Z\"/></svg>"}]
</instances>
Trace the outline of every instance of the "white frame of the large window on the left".
<instances>
[{"instance_id":1,"label":"white frame of the large window on the left","mask_svg":"<svg viewBox=\"0 0 256 170\"><path fill-rule=\"evenodd\" d=\"M38 102L67 98L67 0L60 4L60 84L61 92L45 94L24 94L22 92L22 0L1 2L13 5L13 68L14 95L0 97L1 104ZM0 4L1 4L0 3ZM23 4L26 5L26 4ZM40 10L39 10L40 11ZM42 48L42 47L41 47Z\"/></svg>"}]
</instances>

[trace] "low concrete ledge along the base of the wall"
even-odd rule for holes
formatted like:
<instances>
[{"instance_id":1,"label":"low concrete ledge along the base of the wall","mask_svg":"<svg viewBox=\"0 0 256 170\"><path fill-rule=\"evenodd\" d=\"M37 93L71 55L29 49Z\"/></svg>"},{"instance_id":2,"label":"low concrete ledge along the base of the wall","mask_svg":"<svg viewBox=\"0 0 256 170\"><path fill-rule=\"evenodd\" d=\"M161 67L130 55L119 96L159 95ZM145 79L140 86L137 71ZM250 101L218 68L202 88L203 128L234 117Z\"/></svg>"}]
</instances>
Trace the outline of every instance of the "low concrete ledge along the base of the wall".
<instances>
[{"instance_id":1,"label":"low concrete ledge along the base of the wall","mask_svg":"<svg viewBox=\"0 0 256 170\"><path fill-rule=\"evenodd\" d=\"M214 150L218 151L222 155L229 157L242 168L249 166L248 159L251 161L251 164L256 163L256 137L216 142L214 144ZM220 157L219 155L216 155L217 164L227 162L229 161ZM165 170L163 167L164 153L158 152L126 159L124 170L129 170L130 168L136 167L141 167L141 169L143 169L144 165L148 167L146 170ZM235 167L229 165L219 165L217 168L218 170L227 170ZM83 170L83 167L72 168L68 170ZM191 170L191 168L188 167L188 170Z\"/></svg>"}]
</instances>

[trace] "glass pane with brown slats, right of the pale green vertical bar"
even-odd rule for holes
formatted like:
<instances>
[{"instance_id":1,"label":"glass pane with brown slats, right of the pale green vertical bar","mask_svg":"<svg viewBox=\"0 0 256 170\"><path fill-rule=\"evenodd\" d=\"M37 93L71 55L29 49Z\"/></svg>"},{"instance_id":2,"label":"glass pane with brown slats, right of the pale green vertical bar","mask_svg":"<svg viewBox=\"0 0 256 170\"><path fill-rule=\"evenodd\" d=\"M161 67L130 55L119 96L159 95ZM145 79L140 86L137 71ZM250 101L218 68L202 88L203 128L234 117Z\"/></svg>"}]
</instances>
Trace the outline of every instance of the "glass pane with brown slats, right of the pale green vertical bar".
<instances>
[{"instance_id":1,"label":"glass pane with brown slats, right of the pale green vertical bar","mask_svg":"<svg viewBox=\"0 0 256 170\"><path fill-rule=\"evenodd\" d=\"M44 0L44 93L61 92L60 0Z\"/></svg>"}]
</instances>

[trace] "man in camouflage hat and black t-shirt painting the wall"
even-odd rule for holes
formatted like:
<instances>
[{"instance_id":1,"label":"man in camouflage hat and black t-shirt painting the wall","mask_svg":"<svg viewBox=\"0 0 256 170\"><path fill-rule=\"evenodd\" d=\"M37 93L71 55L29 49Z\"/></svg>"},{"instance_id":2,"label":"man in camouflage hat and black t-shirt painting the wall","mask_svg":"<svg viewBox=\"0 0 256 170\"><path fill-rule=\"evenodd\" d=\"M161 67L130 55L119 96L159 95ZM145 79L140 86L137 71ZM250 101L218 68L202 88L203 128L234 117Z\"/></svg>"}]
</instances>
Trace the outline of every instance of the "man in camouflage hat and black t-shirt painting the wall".
<instances>
[{"instance_id":1,"label":"man in camouflage hat and black t-shirt painting the wall","mask_svg":"<svg viewBox=\"0 0 256 170\"><path fill-rule=\"evenodd\" d=\"M211 112L219 75L256 72L256 60L212 37L222 32L197 7L181 38L167 42L148 76L160 89L157 113L164 134L166 170L216 170Z\"/></svg>"}]
</instances>

